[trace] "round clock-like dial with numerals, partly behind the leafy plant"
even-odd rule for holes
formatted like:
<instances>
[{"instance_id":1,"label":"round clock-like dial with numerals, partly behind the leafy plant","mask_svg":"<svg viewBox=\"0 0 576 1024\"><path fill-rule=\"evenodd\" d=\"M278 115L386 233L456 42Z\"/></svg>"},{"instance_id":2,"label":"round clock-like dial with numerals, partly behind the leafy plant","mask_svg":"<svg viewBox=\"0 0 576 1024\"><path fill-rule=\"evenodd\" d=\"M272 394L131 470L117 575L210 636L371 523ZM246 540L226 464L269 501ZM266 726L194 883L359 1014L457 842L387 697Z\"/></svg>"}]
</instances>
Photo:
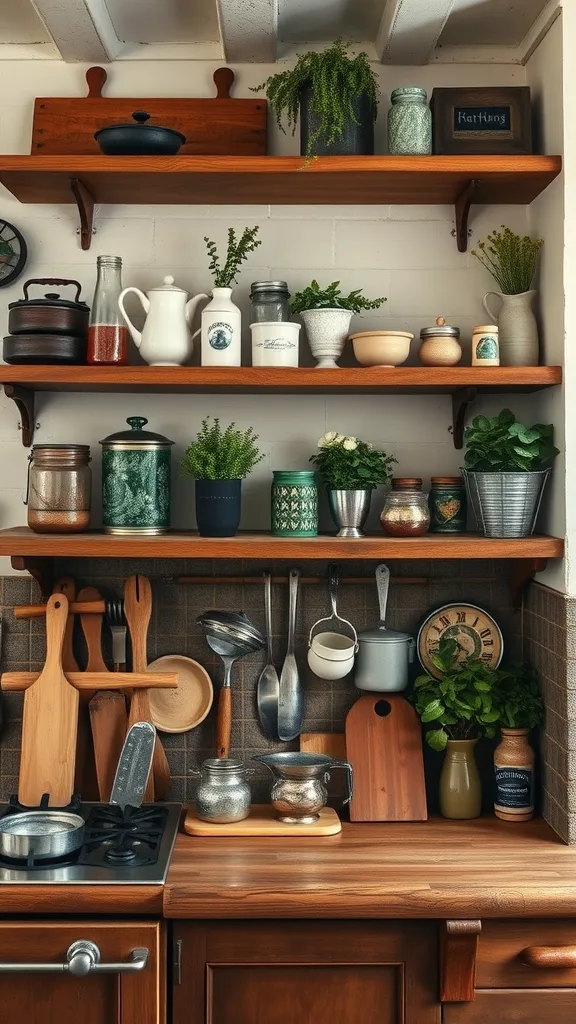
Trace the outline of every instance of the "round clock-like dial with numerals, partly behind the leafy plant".
<instances>
[{"instance_id":1,"label":"round clock-like dial with numerals, partly behind the leafy plant","mask_svg":"<svg viewBox=\"0 0 576 1024\"><path fill-rule=\"evenodd\" d=\"M497 622L476 604L444 604L431 611L418 632L418 657L430 676L440 672L431 663L441 640L453 639L458 645L459 658L478 657L490 668L500 664L504 649Z\"/></svg>"}]
</instances>

